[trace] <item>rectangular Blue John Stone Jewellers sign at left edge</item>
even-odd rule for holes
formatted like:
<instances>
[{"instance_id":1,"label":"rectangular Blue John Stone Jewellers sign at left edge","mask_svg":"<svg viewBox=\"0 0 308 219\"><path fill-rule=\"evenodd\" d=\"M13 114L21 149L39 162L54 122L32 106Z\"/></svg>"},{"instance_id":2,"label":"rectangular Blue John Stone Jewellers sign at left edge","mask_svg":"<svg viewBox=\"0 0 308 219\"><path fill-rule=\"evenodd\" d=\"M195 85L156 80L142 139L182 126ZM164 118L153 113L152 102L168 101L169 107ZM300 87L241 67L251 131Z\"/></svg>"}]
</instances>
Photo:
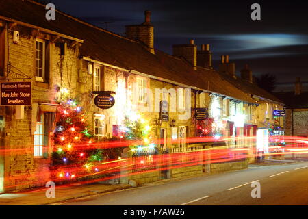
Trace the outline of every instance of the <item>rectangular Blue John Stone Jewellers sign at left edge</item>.
<instances>
[{"instance_id":1,"label":"rectangular Blue John Stone Jewellers sign at left edge","mask_svg":"<svg viewBox=\"0 0 308 219\"><path fill-rule=\"evenodd\" d=\"M1 105L31 105L31 82L1 83Z\"/></svg>"}]
</instances>

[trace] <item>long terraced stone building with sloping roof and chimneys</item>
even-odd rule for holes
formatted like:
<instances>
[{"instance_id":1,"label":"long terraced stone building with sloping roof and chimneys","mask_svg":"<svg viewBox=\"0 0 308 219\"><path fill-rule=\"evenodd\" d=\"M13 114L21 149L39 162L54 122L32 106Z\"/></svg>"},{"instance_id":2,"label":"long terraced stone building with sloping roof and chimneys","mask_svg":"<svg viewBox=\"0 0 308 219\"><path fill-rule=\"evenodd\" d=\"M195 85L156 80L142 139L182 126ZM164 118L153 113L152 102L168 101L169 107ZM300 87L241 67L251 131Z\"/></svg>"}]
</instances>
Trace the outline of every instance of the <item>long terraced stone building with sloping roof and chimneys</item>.
<instances>
[{"instance_id":1,"label":"long terraced stone building with sloping roof and chimneys","mask_svg":"<svg viewBox=\"0 0 308 219\"><path fill-rule=\"evenodd\" d=\"M253 153L254 142L232 139L254 136L272 122L272 110L283 107L251 83L248 68L236 77L229 57L214 70L209 45L198 51L190 40L173 45L172 55L155 49L149 11L144 23L126 27L126 36L60 11L55 21L47 21L46 12L45 5L31 0L0 1L0 80L31 82L30 105L0 107L0 191L49 181L59 96L80 99L98 139L117 135L125 115L140 114L162 139L162 151L187 150L188 138L204 135L199 130L204 123L217 129L218 137L231 137L228 146ZM115 92L112 108L94 105L91 92L99 91ZM162 101L168 103L168 119L162 118ZM200 109L208 116L197 120Z\"/></svg>"}]
</instances>

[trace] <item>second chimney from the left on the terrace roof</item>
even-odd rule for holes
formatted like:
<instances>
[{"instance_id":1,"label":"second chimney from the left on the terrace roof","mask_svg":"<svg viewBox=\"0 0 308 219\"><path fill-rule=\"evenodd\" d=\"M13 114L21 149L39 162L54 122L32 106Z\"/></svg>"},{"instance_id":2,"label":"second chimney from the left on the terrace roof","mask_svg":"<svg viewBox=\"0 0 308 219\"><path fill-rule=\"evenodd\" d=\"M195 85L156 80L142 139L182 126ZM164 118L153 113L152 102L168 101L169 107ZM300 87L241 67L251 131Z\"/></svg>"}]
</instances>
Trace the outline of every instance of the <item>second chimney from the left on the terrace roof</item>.
<instances>
[{"instance_id":1,"label":"second chimney from the left on the terrace roof","mask_svg":"<svg viewBox=\"0 0 308 219\"><path fill-rule=\"evenodd\" d=\"M194 70L197 66L197 47L194 44L194 40L190 40L189 44L176 44L172 46L173 55L177 57L183 57L187 60Z\"/></svg>"}]
</instances>

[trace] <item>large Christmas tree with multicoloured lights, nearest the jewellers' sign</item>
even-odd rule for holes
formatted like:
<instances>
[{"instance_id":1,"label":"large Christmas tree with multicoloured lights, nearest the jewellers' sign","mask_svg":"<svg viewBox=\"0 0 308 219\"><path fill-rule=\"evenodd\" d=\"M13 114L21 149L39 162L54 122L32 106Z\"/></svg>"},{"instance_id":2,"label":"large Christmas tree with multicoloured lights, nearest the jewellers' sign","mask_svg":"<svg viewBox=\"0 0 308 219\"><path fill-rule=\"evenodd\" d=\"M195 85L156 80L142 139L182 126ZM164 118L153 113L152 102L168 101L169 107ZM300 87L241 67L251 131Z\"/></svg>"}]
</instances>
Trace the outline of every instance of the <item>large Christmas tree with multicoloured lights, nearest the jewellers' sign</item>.
<instances>
[{"instance_id":1,"label":"large Christmas tree with multicoloured lights, nearest the jewellers' sign","mask_svg":"<svg viewBox=\"0 0 308 219\"><path fill-rule=\"evenodd\" d=\"M86 127L86 115L77 101L68 99L59 103L57 123L53 135L51 170L64 180L76 179L99 162L103 155L92 146L93 139Z\"/></svg>"}]
</instances>

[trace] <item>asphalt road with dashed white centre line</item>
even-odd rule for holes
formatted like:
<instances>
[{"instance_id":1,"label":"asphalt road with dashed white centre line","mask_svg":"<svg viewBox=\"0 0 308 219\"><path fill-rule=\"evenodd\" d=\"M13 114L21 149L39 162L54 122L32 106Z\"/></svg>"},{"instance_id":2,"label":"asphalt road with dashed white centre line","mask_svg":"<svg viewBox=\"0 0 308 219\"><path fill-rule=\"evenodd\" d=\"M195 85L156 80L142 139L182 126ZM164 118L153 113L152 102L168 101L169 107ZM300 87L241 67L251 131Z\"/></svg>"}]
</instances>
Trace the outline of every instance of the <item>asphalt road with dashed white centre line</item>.
<instances>
[{"instance_id":1,"label":"asphalt road with dashed white centre line","mask_svg":"<svg viewBox=\"0 0 308 219\"><path fill-rule=\"evenodd\" d=\"M261 198L252 198L258 181ZM246 170L98 194L56 205L308 205L308 162Z\"/></svg>"}]
</instances>

